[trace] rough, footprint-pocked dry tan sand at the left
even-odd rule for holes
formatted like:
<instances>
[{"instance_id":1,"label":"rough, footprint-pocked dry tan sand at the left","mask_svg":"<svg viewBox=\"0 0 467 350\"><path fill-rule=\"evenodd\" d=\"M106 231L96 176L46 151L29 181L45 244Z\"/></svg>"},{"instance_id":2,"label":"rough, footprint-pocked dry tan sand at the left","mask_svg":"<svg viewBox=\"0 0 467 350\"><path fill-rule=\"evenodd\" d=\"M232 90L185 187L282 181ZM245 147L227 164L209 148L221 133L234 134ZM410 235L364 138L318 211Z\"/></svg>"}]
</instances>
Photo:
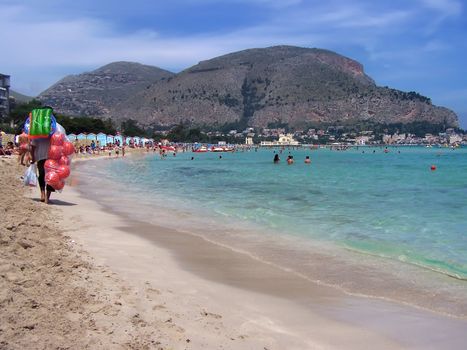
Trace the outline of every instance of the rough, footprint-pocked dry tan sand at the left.
<instances>
[{"instance_id":1,"label":"rough, footprint-pocked dry tan sand at the left","mask_svg":"<svg viewBox=\"0 0 467 350\"><path fill-rule=\"evenodd\" d=\"M38 189L21 186L23 171L14 159L0 159L0 349L185 343L167 320L141 319L140 297L65 235L58 211L31 199Z\"/></svg>"}]
</instances>

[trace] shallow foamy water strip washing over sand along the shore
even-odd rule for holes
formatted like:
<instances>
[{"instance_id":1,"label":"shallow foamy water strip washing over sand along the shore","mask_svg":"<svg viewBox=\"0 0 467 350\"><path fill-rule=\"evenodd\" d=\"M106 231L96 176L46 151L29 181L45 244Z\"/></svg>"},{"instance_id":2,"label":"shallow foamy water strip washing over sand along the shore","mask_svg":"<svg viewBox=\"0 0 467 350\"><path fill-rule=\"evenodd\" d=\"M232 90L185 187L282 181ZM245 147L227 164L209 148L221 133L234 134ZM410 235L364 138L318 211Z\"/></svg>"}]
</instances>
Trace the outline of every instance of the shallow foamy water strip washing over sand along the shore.
<instances>
[{"instance_id":1,"label":"shallow foamy water strip washing over sand along the shore","mask_svg":"<svg viewBox=\"0 0 467 350\"><path fill-rule=\"evenodd\" d=\"M467 286L464 281L411 262L352 250L344 245L306 240L295 234L281 235L281 231L266 230L261 225L228 217L215 217L204 208L197 208L196 203L193 205L190 197L180 201L176 193L175 197L168 198L158 192L146 196L144 188L141 190L136 185L128 191L126 186L133 186L133 180L137 183L136 174L124 182L102 180L110 168L112 174L132 169L145 172L148 177L151 164L146 160L152 163L151 159L142 162L137 159L129 160L126 166L120 162L93 164L87 168L88 174L81 174L84 188L93 193L105 210L116 212L126 220L139 220L202 237L215 245L276 266L309 282L340 290L346 295L394 302L466 319ZM95 171L95 176L90 175L92 171ZM118 192L118 198L112 192Z\"/></svg>"}]
</instances>

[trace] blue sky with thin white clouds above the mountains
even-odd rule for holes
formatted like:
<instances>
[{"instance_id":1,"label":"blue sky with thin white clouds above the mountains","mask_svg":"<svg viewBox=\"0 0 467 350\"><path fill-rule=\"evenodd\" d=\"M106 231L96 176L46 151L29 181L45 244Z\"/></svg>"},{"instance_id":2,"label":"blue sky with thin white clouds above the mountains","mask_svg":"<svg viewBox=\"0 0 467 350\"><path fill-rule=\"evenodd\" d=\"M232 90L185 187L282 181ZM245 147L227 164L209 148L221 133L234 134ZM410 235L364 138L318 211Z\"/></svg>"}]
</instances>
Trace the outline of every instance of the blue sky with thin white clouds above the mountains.
<instances>
[{"instance_id":1,"label":"blue sky with thin white clouds above the mountains","mask_svg":"<svg viewBox=\"0 0 467 350\"><path fill-rule=\"evenodd\" d=\"M113 61L178 72L247 48L319 47L451 108L467 128L466 10L461 0L0 0L0 72L37 95Z\"/></svg>"}]
</instances>

